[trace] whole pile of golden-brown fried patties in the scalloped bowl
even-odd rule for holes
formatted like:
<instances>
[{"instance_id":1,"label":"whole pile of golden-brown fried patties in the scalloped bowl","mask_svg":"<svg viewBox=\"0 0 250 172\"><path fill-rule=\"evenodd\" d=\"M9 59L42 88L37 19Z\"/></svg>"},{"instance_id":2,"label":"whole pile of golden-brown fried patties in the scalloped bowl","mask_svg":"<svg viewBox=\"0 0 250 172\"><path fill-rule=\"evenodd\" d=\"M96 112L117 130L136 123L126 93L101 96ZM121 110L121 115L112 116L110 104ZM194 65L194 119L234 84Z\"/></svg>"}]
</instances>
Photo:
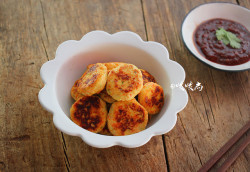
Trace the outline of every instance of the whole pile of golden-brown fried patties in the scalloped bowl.
<instances>
[{"instance_id":1,"label":"whole pile of golden-brown fried patties in the scalloped bowl","mask_svg":"<svg viewBox=\"0 0 250 172\"><path fill-rule=\"evenodd\" d=\"M121 62L88 65L71 96L75 103L70 117L77 125L114 136L144 130L149 115L159 113L164 104L163 89L149 72Z\"/></svg>"}]
</instances>

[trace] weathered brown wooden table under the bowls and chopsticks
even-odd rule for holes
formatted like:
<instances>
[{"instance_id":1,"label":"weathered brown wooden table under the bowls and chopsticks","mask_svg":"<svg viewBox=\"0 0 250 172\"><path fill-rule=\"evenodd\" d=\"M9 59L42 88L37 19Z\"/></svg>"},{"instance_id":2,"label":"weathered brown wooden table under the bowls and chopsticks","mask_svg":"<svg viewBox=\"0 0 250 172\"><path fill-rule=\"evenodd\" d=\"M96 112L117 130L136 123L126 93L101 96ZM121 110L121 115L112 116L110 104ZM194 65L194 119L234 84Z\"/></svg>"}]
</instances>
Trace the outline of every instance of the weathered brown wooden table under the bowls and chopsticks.
<instances>
[{"instance_id":1,"label":"weathered brown wooden table under the bowls and chopsticks","mask_svg":"<svg viewBox=\"0 0 250 172\"><path fill-rule=\"evenodd\" d=\"M250 8L249 0L224 1ZM1 0L0 171L186 172L202 167L250 119L249 71L212 69L181 40L184 16L205 2L210 0ZM55 57L60 43L92 30L130 30L160 42L184 67L185 83L203 85L202 91L188 90L188 105L171 132L139 148L97 149L54 127L37 98L43 87L40 67ZM247 172L249 164L248 146L228 171Z\"/></svg>"}]
</instances>

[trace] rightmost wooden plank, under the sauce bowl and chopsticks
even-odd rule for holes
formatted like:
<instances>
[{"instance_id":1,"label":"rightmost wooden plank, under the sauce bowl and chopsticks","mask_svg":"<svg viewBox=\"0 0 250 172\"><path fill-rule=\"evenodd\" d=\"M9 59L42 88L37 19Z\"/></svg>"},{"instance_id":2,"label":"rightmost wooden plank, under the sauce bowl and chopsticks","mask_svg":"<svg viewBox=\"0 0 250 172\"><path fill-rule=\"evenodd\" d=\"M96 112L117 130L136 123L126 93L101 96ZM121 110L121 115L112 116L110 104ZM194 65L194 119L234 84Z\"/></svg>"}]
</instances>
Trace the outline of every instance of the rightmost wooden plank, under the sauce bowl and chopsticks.
<instances>
[{"instance_id":1,"label":"rightmost wooden plank, under the sauce bowl and chopsticks","mask_svg":"<svg viewBox=\"0 0 250 172\"><path fill-rule=\"evenodd\" d=\"M187 107L165 135L170 171L197 171L250 119L249 72L211 69L196 60L182 42L185 15L205 2L210 1L143 0L148 39L164 44L170 58L184 67L185 83L199 81L204 86L201 92L188 90ZM249 168L249 154L241 154L229 171Z\"/></svg>"}]
</instances>

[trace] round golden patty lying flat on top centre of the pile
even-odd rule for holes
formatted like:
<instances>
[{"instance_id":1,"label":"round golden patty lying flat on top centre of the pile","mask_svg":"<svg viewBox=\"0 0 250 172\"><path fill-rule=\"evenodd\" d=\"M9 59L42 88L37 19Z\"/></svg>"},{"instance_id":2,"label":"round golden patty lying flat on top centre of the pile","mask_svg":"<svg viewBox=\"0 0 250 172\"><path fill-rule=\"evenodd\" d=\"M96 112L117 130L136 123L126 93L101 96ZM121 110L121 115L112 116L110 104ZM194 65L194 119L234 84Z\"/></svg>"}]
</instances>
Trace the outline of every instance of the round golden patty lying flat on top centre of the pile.
<instances>
[{"instance_id":1,"label":"round golden patty lying flat on top centre of the pile","mask_svg":"<svg viewBox=\"0 0 250 172\"><path fill-rule=\"evenodd\" d=\"M117 101L132 100L142 87L142 73L132 64L122 64L108 74L106 90Z\"/></svg>"}]
</instances>

